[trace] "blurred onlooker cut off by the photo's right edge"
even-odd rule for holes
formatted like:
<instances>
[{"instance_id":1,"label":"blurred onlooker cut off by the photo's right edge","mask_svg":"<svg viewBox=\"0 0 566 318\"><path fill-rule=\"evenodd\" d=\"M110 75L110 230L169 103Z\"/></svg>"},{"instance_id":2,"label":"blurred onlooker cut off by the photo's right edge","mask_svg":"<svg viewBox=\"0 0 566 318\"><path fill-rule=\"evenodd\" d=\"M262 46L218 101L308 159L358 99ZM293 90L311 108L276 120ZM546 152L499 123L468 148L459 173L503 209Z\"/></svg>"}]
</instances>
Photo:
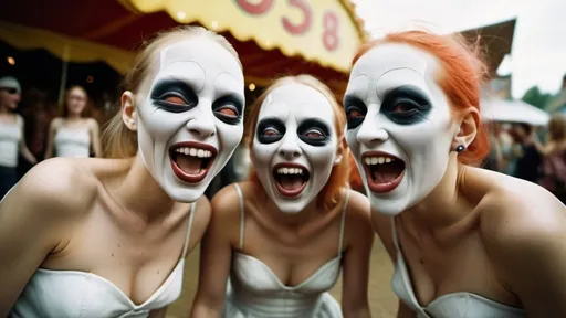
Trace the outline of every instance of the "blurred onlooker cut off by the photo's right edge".
<instances>
[{"instance_id":1,"label":"blurred onlooker cut off by the photo's right edge","mask_svg":"<svg viewBox=\"0 0 566 318\"><path fill-rule=\"evenodd\" d=\"M534 145L544 156L541 186L566 203L566 116L555 114L548 124L548 142Z\"/></svg>"}]
</instances>

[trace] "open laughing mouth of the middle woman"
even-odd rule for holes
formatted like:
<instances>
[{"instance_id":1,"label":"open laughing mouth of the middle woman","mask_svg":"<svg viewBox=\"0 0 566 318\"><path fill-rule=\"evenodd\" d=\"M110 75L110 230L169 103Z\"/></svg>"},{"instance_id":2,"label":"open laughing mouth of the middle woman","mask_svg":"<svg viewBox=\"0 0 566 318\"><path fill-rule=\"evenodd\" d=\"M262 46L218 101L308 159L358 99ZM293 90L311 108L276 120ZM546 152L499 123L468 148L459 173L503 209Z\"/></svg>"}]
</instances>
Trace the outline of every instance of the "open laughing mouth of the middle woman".
<instances>
[{"instance_id":1,"label":"open laughing mouth of the middle woman","mask_svg":"<svg viewBox=\"0 0 566 318\"><path fill-rule=\"evenodd\" d=\"M284 197L298 197L306 187L311 173L297 163L277 163L273 167L275 187Z\"/></svg>"}]
</instances>

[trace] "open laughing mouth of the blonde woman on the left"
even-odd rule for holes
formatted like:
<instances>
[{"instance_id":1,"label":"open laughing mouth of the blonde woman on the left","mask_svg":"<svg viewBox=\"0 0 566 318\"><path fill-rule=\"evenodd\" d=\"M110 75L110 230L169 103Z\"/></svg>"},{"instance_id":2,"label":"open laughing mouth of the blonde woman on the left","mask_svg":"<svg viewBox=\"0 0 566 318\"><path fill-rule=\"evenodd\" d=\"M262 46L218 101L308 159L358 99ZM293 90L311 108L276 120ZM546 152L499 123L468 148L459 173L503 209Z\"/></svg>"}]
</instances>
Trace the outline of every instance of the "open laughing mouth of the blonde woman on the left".
<instances>
[{"instance_id":1,"label":"open laughing mouth of the blonde woman on the left","mask_svg":"<svg viewBox=\"0 0 566 318\"><path fill-rule=\"evenodd\" d=\"M207 144L175 144L169 148L172 172L185 182L198 183L207 177L217 153L217 149Z\"/></svg>"}]
</instances>

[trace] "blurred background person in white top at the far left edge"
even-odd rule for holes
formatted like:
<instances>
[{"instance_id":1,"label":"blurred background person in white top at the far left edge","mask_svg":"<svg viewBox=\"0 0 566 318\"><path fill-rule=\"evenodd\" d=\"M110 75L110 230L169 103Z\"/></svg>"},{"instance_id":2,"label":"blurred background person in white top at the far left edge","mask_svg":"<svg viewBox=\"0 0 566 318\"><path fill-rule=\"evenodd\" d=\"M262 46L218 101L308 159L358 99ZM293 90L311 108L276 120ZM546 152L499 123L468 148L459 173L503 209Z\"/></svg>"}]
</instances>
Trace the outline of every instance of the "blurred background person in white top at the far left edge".
<instances>
[{"instance_id":1,"label":"blurred background person in white top at the far left edge","mask_svg":"<svg viewBox=\"0 0 566 318\"><path fill-rule=\"evenodd\" d=\"M38 162L25 145L23 118L14 114L21 99L21 86L11 76L0 78L0 200L18 182L18 155Z\"/></svg>"}]
</instances>

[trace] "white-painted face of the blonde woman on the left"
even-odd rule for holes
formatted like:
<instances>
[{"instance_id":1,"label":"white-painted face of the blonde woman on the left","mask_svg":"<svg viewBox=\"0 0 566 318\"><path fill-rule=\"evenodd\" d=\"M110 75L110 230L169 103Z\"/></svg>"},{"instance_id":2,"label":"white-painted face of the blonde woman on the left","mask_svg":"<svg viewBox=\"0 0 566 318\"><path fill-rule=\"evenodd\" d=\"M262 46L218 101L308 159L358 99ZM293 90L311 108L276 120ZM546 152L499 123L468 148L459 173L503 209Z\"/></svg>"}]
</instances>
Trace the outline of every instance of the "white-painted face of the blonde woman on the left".
<instances>
[{"instance_id":1,"label":"white-painted face of the blonde woman on the left","mask_svg":"<svg viewBox=\"0 0 566 318\"><path fill-rule=\"evenodd\" d=\"M160 51L149 92L138 92L139 152L176 201L193 202L243 134L244 82L237 59L195 35Z\"/></svg>"}]
</instances>

